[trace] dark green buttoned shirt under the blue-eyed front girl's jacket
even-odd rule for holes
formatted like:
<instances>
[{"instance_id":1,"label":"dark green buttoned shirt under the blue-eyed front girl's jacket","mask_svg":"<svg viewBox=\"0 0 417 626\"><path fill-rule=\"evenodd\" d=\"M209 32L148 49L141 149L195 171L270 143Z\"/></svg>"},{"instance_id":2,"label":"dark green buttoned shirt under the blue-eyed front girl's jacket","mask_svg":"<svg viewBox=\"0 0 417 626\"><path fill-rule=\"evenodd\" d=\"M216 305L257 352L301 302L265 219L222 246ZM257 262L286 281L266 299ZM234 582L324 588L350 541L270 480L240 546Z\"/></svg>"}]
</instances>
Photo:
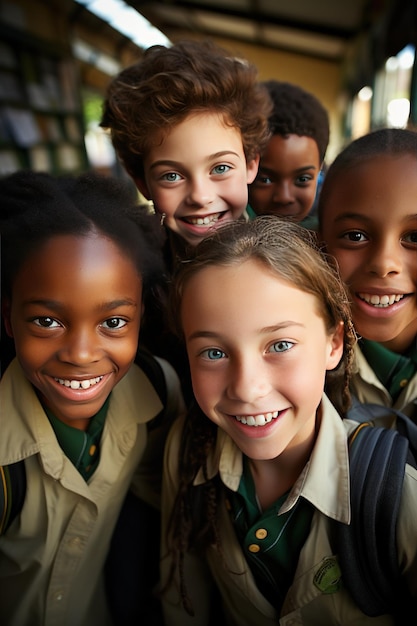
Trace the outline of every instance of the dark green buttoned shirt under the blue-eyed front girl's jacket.
<instances>
[{"instance_id":1,"label":"dark green buttoned shirt under the blue-eyed front girl's jacket","mask_svg":"<svg viewBox=\"0 0 417 626\"><path fill-rule=\"evenodd\" d=\"M288 497L282 495L266 511L256 497L255 484L246 457L237 492L228 490L228 508L256 584L280 612L294 578L298 556L310 531L314 507L299 498L286 513L278 511Z\"/></svg>"}]
</instances>

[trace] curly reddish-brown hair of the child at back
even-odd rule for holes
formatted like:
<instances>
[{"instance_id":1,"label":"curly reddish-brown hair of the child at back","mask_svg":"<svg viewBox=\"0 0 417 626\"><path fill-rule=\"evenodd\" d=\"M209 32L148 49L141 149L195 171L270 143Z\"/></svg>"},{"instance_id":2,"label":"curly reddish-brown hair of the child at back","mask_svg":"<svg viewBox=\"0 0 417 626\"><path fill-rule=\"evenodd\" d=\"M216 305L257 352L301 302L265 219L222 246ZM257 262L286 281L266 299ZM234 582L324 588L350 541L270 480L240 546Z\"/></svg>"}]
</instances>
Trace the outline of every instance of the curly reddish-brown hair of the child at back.
<instances>
[{"instance_id":1,"label":"curly reddish-brown hair of the child at back","mask_svg":"<svg viewBox=\"0 0 417 626\"><path fill-rule=\"evenodd\" d=\"M247 161L269 139L272 104L256 66L211 41L152 46L110 83L101 126L133 178L143 179L143 157L190 113L216 112L240 130Z\"/></svg>"}]
</instances>

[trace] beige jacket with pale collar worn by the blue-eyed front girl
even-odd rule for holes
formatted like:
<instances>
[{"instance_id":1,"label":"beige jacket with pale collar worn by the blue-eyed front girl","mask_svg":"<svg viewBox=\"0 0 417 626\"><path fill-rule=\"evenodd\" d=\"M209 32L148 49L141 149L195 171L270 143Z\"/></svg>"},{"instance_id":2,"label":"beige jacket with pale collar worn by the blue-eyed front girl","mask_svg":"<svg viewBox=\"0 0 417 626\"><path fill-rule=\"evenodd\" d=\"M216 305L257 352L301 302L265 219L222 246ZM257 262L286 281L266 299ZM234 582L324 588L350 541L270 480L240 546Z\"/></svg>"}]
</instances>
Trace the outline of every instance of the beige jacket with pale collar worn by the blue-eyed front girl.
<instances>
[{"instance_id":1,"label":"beige jacket with pale collar worn by the blue-eyed front girl","mask_svg":"<svg viewBox=\"0 0 417 626\"><path fill-rule=\"evenodd\" d=\"M343 588L337 562L337 545L332 538L334 520L350 521L347 432L355 422L341 420L324 396L322 422L310 461L291 490L280 512L289 510L301 495L316 511L310 534L297 564L293 583L278 615L259 592L231 524L221 503L221 536L226 567L214 548L205 559L186 555L186 584L196 613L189 617L179 602L178 587L172 585L164 596L166 626L213 626L210 596L216 581L223 599L228 626L388 626L389 616L369 618L356 607ZM177 488L178 446L182 424L170 433L165 451L163 485L163 526L167 527ZM230 489L237 490L242 474L242 455L232 439L219 431L217 447L209 459L210 473L220 472ZM199 477L197 477L198 481ZM417 604L417 471L407 465L398 521L398 551L404 585ZM164 541L164 540L163 540ZM163 552L164 554L164 546ZM167 579L169 561L162 561L162 577Z\"/></svg>"}]
</instances>

